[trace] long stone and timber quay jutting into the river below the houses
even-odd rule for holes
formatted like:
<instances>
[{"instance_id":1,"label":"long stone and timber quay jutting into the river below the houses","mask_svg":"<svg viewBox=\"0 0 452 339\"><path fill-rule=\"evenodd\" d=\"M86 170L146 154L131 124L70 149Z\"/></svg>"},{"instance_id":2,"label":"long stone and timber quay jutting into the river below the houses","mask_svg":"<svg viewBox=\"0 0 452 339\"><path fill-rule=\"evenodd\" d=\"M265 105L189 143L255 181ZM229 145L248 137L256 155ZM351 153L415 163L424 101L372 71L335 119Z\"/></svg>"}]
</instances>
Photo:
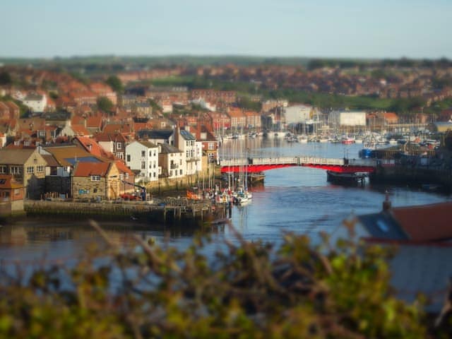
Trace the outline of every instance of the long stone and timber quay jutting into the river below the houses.
<instances>
[{"instance_id":1,"label":"long stone and timber quay jutting into the river below the houses","mask_svg":"<svg viewBox=\"0 0 452 339\"><path fill-rule=\"evenodd\" d=\"M205 225L227 220L230 210L225 203L208 200L189 201L186 198L165 198L159 203L146 201L24 201L25 213L30 216L61 216L65 218L93 218L100 220L137 220L164 225Z\"/></svg>"}]
</instances>

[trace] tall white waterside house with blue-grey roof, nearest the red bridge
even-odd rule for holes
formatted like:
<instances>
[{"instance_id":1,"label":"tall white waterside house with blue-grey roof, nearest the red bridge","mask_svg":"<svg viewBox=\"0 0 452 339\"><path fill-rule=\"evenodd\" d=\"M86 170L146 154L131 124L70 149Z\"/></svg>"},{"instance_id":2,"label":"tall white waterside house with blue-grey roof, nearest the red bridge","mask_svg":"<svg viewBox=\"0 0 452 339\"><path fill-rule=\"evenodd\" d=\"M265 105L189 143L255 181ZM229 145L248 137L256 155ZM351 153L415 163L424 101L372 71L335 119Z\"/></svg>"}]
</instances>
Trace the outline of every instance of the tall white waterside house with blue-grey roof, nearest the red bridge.
<instances>
[{"instance_id":1,"label":"tall white waterside house with blue-grey roof, nearest the red bridge","mask_svg":"<svg viewBox=\"0 0 452 339\"><path fill-rule=\"evenodd\" d=\"M174 146L182 150L183 161L186 162L186 174L201 172L203 167L203 145L201 141L196 141L191 133L178 127L174 131Z\"/></svg>"}]
</instances>

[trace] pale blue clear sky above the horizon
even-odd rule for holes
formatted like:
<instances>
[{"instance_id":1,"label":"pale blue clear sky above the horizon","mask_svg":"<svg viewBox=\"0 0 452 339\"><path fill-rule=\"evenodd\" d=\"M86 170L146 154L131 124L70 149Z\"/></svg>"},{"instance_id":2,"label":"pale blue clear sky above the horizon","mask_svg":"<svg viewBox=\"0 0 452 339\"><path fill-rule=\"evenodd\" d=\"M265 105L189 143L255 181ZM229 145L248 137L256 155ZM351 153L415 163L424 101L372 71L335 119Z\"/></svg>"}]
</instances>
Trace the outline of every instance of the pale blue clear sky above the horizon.
<instances>
[{"instance_id":1,"label":"pale blue clear sky above the horizon","mask_svg":"<svg viewBox=\"0 0 452 339\"><path fill-rule=\"evenodd\" d=\"M452 0L1 0L0 57L452 59Z\"/></svg>"}]
</instances>

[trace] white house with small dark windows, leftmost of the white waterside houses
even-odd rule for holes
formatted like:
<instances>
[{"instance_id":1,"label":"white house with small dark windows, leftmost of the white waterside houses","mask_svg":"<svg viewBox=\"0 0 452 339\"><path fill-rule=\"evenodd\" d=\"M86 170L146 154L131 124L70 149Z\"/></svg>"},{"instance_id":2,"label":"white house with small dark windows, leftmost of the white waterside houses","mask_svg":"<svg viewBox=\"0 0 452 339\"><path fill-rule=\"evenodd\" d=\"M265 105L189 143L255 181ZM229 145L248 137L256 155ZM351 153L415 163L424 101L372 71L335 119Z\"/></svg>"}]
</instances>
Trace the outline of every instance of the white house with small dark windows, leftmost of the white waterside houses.
<instances>
[{"instance_id":1,"label":"white house with small dark windows, leftmost of the white waterside houses","mask_svg":"<svg viewBox=\"0 0 452 339\"><path fill-rule=\"evenodd\" d=\"M126 165L136 171L136 181L158 180L158 146L149 141L133 141L126 145Z\"/></svg>"}]
</instances>

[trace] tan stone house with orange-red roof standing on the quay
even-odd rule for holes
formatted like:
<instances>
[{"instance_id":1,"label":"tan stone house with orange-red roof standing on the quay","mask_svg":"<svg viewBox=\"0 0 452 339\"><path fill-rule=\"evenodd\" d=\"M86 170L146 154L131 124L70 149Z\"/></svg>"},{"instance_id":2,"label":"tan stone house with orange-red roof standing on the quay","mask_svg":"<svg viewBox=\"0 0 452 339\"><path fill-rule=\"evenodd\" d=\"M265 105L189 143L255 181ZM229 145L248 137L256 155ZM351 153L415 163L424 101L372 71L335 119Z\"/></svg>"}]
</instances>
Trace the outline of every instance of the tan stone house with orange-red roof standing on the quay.
<instances>
[{"instance_id":1,"label":"tan stone house with orange-red roof standing on the quay","mask_svg":"<svg viewBox=\"0 0 452 339\"><path fill-rule=\"evenodd\" d=\"M114 162L78 162L72 174L74 199L116 199L122 184L119 169Z\"/></svg>"}]
</instances>

